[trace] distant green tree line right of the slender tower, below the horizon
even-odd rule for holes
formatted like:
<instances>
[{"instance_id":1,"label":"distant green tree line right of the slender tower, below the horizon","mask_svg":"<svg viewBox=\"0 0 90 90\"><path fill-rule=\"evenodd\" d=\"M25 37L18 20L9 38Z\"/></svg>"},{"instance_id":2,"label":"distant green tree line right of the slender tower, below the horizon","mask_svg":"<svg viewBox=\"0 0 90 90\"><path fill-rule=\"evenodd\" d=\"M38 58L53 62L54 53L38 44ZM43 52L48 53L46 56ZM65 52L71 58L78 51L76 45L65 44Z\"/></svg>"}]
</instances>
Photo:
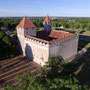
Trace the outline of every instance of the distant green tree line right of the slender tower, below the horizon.
<instances>
[{"instance_id":1,"label":"distant green tree line right of the slender tower, below the horizon","mask_svg":"<svg viewBox=\"0 0 90 90\"><path fill-rule=\"evenodd\" d=\"M90 18L59 18L52 21L53 27L64 26L64 28L90 30Z\"/></svg>"}]
</instances>

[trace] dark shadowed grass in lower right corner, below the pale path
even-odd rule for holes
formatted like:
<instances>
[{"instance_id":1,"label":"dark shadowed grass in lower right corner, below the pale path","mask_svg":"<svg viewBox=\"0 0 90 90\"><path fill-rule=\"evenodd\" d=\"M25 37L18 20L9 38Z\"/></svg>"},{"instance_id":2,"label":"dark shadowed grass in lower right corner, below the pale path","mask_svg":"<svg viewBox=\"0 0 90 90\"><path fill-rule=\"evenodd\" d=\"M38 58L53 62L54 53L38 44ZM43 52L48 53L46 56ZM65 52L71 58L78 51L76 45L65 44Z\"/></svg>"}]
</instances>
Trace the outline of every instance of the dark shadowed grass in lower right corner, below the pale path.
<instances>
[{"instance_id":1,"label":"dark shadowed grass in lower right corner, below the pale path","mask_svg":"<svg viewBox=\"0 0 90 90\"><path fill-rule=\"evenodd\" d=\"M72 68L71 73L74 73L82 84L90 88L90 47L86 54L71 64L70 68Z\"/></svg>"}]
</instances>

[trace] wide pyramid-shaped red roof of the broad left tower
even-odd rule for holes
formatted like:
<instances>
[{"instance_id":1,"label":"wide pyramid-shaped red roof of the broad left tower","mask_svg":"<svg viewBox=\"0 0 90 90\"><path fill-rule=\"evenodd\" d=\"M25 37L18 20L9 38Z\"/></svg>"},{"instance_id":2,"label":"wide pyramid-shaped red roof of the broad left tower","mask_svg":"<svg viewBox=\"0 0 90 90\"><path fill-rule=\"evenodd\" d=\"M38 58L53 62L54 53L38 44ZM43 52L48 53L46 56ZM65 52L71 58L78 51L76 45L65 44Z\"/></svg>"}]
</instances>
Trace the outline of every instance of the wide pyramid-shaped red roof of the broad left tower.
<instances>
[{"instance_id":1,"label":"wide pyramid-shaped red roof of the broad left tower","mask_svg":"<svg viewBox=\"0 0 90 90\"><path fill-rule=\"evenodd\" d=\"M33 28L36 27L27 17L24 17L17 25L19 28Z\"/></svg>"}]
</instances>

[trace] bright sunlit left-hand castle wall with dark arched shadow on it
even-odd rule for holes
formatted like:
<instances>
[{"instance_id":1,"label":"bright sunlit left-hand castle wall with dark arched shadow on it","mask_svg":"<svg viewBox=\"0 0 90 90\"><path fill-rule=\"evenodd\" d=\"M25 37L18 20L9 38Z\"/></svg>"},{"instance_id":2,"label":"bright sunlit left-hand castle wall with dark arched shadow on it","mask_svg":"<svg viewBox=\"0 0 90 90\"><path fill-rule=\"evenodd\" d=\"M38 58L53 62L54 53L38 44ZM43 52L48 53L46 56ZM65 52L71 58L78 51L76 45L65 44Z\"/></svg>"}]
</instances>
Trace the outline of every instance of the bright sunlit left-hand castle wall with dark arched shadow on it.
<instances>
[{"instance_id":1,"label":"bright sunlit left-hand castle wall with dark arched shadow on it","mask_svg":"<svg viewBox=\"0 0 90 90\"><path fill-rule=\"evenodd\" d=\"M45 62L49 57L49 45L33 39L25 38L21 35L18 35L18 38L21 43L23 55L42 66L45 65Z\"/></svg>"}]
</instances>

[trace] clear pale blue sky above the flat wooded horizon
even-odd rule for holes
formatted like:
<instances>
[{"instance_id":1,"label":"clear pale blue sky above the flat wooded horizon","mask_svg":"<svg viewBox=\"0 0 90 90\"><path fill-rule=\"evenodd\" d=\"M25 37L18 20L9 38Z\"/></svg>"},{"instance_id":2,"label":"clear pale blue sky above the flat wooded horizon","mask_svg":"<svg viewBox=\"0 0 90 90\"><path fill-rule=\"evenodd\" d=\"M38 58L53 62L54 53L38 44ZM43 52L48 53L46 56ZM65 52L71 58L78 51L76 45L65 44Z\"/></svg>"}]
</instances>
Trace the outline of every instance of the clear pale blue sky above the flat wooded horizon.
<instances>
[{"instance_id":1,"label":"clear pale blue sky above the flat wooded horizon","mask_svg":"<svg viewBox=\"0 0 90 90\"><path fill-rule=\"evenodd\" d=\"M0 17L90 17L90 0L0 0Z\"/></svg>"}]
</instances>

